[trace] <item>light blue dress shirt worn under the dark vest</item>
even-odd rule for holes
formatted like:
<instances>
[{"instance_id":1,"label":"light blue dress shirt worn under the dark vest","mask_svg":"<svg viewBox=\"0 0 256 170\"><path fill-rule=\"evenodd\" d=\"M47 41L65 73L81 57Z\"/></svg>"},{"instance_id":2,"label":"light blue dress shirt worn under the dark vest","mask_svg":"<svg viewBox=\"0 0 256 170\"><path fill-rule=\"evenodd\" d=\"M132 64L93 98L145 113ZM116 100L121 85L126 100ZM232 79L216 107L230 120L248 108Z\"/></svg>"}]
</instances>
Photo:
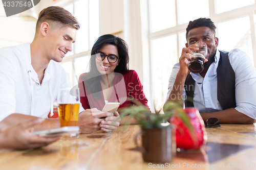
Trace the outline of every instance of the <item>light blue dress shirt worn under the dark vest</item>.
<instances>
[{"instance_id":1,"label":"light blue dress shirt worn under the dark vest","mask_svg":"<svg viewBox=\"0 0 256 170\"><path fill-rule=\"evenodd\" d=\"M255 119L256 118L256 71L250 57L239 49L229 52L228 58L235 74L237 111ZM223 110L217 96L217 67L220 60L220 52L217 50L215 61L209 66L205 77L200 74L190 73L195 80L194 106L200 112L215 112ZM168 93L173 88L179 63L174 65L169 78ZM184 91L185 93L185 91Z\"/></svg>"}]
</instances>

